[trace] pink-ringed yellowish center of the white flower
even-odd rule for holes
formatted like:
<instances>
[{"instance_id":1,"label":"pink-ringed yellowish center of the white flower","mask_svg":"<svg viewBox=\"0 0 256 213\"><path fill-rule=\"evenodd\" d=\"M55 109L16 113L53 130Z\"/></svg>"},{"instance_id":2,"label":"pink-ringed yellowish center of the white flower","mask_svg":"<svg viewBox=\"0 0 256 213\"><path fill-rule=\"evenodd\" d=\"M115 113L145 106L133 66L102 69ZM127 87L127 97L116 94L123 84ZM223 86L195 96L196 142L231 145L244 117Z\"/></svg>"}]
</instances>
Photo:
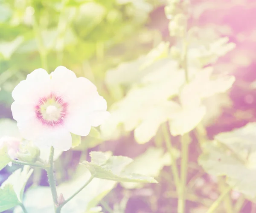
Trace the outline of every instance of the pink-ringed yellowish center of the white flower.
<instances>
[{"instance_id":1,"label":"pink-ringed yellowish center of the white flower","mask_svg":"<svg viewBox=\"0 0 256 213\"><path fill-rule=\"evenodd\" d=\"M40 98L35 106L35 114L42 124L47 126L58 126L63 124L67 115L68 104L57 95L51 94Z\"/></svg>"}]
</instances>

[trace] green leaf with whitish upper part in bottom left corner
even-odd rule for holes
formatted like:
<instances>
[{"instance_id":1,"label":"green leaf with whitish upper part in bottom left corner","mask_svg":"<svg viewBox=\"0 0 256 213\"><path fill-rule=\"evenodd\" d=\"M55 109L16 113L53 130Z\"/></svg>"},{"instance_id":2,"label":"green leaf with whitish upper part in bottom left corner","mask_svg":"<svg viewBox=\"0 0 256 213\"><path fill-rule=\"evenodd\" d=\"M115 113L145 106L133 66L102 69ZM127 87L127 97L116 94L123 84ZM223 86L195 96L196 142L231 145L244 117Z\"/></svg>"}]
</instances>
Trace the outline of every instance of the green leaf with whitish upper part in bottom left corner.
<instances>
[{"instance_id":1,"label":"green leaf with whitish upper part in bottom left corner","mask_svg":"<svg viewBox=\"0 0 256 213\"><path fill-rule=\"evenodd\" d=\"M22 202L23 192L33 170L24 166L23 170L18 169L3 182L0 187L0 211L13 208Z\"/></svg>"}]
</instances>

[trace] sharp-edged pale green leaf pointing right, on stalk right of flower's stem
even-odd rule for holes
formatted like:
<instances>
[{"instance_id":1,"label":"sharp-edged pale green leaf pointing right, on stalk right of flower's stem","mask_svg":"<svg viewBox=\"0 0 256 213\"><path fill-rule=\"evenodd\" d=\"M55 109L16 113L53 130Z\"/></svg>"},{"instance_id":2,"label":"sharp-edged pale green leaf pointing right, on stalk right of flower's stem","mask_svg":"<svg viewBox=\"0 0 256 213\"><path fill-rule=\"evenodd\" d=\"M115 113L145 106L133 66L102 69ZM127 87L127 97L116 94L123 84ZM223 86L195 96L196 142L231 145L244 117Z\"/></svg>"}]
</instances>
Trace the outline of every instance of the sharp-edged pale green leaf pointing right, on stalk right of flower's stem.
<instances>
[{"instance_id":1,"label":"sharp-edged pale green leaf pointing right, on stalk right of flower's stem","mask_svg":"<svg viewBox=\"0 0 256 213\"><path fill-rule=\"evenodd\" d=\"M126 172L125 167L132 162L131 158L109 156L109 153L101 152L91 152L90 156L90 163L83 161L81 164L86 166L96 178L119 182L157 183L152 177Z\"/></svg>"}]
</instances>

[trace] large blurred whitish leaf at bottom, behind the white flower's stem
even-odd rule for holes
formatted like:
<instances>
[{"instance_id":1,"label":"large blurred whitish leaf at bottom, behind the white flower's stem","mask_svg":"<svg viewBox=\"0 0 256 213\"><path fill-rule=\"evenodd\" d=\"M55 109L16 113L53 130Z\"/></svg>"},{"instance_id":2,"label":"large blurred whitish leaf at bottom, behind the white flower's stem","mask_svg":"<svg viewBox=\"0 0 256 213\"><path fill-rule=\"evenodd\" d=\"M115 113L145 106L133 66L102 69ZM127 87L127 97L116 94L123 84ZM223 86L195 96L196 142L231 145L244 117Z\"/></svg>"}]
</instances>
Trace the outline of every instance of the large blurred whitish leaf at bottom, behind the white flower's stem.
<instances>
[{"instance_id":1,"label":"large blurred whitish leaf at bottom, behind the white flower's stem","mask_svg":"<svg viewBox=\"0 0 256 213\"><path fill-rule=\"evenodd\" d=\"M75 175L70 181L61 183L57 186L57 192L62 193L64 199L69 198L75 193L91 174L88 170L84 171L84 166L79 166ZM95 210L99 201L104 198L115 187L114 181L94 178L78 195L70 200L61 209L61 213L81 213ZM42 199L44 198L44 199ZM31 187L26 191L23 204L28 213L54 213L54 205L52 203L52 194L49 187ZM23 213L20 207L15 208L14 213Z\"/></svg>"}]
</instances>

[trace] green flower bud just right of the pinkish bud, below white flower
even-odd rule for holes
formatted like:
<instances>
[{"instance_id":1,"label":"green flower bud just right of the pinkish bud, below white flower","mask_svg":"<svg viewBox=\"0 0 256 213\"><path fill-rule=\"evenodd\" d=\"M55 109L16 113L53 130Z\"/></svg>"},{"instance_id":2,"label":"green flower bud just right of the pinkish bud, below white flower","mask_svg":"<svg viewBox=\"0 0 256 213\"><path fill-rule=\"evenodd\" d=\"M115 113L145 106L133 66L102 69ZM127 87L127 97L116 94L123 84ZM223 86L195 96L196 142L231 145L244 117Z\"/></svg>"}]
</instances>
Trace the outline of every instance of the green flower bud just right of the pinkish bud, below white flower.
<instances>
[{"instance_id":1,"label":"green flower bud just right of the pinkish bud, below white flower","mask_svg":"<svg viewBox=\"0 0 256 213\"><path fill-rule=\"evenodd\" d=\"M17 152L17 159L20 161L34 163L40 156L40 150L29 141L22 141Z\"/></svg>"}]
</instances>

